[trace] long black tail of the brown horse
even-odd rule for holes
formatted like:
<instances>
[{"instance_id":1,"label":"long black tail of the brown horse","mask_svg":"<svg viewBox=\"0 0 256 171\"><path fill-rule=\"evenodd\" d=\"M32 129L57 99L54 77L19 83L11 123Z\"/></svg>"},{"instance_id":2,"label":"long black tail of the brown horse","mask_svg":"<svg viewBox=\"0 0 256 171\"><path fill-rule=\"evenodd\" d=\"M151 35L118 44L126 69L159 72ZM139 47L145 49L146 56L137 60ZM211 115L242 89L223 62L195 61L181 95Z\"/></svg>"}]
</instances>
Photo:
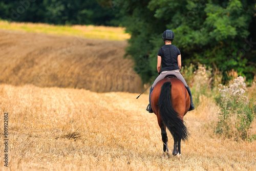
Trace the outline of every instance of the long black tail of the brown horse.
<instances>
[{"instance_id":1,"label":"long black tail of the brown horse","mask_svg":"<svg viewBox=\"0 0 256 171\"><path fill-rule=\"evenodd\" d=\"M159 112L163 123L174 139L176 141L181 139L186 140L189 136L188 129L173 108L172 102L170 101L170 89L172 89L172 83L170 81L163 83L158 100Z\"/></svg>"}]
</instances>

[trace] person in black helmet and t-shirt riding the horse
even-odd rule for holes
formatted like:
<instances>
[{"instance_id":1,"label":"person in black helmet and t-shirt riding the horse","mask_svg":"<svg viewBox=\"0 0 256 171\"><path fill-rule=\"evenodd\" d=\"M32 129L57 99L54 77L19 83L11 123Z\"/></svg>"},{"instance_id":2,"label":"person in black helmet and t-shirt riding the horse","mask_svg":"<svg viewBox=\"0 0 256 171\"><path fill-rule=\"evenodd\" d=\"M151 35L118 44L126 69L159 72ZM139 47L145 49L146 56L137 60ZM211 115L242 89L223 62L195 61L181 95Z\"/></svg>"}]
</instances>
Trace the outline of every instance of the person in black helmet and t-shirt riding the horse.
<instances>
[{"instance_id":1,"label":"person in black helmet and t-shirt riding the horse","mask_svg":"<svg viewBox=\"0 0 256 171\"><path fill-rule=\"evenodd\" d=\"M190 96L190 108L188 111L192 111L195 109L194 104L192 102L192 95L189 87L187 86L185 79L180 73L180 69L181 69L180 50L176 46L172 45L172 42L174 40L174 32L172 30L165 30L163 32L162 38L165 45L159 49L157 54L157 71L159 76L156 78L156 80L154 81L150 89L150 95L158 81L165 78L165 76L167 75L175 75L178 79L180 79L184 83L188 91L188 94ZM162 65L162 69L161 69L161 65ZM151 107L151 99L150 99L150 104L148 104L146 110L149 113L153 113L152 107Z\"/></svg>"}]
</instances>

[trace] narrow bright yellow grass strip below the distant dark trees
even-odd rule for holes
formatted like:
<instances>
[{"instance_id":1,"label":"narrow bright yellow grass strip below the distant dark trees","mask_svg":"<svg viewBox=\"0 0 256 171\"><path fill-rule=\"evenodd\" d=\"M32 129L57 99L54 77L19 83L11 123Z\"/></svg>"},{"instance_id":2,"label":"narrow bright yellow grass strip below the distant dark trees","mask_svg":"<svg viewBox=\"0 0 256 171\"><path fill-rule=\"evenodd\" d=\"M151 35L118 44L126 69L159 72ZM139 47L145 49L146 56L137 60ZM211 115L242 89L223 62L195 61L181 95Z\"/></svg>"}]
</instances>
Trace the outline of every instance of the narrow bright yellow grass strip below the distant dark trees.
<instances>
[{"instance_id":1,"label":"narrow bright yellow grass strip below the distant dark trees","mask_svg":"<svg viewBox=\"0 0 256 171\"><path fill-rule=\"evenodd\" d=\"M53 35L80 36L83 38L94 38L104 40L123 41L130 38L130 34L124 33L121 27L106 26L56 26L49 24L15 23L0 20L0 29L16 30L33 33L47 33Z\"/></svg>"}]
</instances>

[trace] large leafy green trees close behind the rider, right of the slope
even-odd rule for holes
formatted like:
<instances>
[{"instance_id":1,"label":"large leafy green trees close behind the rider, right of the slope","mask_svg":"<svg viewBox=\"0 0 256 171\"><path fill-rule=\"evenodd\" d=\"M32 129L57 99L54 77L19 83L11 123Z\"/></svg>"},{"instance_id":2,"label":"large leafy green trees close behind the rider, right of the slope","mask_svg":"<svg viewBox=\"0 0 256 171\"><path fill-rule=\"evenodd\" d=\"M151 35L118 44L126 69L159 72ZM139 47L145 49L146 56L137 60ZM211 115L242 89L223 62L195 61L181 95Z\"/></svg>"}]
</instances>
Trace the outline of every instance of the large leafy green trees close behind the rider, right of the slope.
<instances>
[{"instance_id":1,"label":"large leafy green trees close behind the rider, right of the slope","mask_svg":"<svg viewBox=\"0 0 256 171\"><path fill-rule=\"evenodd\" d=\"M249 79L256 74L255 2L251 0L112 3L125 16L124 26L132 35L127 54L134 58L135 71L144 82L157 76L156 56L166 29L174 31L173 44L181 50L183 63L235 69Z\"/></svg>"}]
</instances>

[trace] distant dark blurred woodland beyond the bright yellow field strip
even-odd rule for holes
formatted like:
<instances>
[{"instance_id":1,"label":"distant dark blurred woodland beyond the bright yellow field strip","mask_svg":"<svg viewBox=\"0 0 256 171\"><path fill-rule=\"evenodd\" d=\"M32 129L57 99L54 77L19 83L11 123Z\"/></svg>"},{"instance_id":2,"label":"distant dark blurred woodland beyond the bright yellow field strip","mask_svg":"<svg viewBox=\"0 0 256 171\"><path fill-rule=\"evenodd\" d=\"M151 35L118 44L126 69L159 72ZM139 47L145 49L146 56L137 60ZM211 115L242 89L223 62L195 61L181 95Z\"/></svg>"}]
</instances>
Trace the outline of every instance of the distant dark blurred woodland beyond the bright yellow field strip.
<instances>
[{"instance_id":1,"label":"distant dark blurred woodland beyond the bright yellow field strip","mask_svg":"<svg viewBox=\"0 0 256 171\"><path fill-rule=\"evenodd\" d=\"M20 0L0 2L0 18L13 22L58 25L118 25L112 20L118 10L102 7L97 1Z\"/></svg>"}]
</instances>

